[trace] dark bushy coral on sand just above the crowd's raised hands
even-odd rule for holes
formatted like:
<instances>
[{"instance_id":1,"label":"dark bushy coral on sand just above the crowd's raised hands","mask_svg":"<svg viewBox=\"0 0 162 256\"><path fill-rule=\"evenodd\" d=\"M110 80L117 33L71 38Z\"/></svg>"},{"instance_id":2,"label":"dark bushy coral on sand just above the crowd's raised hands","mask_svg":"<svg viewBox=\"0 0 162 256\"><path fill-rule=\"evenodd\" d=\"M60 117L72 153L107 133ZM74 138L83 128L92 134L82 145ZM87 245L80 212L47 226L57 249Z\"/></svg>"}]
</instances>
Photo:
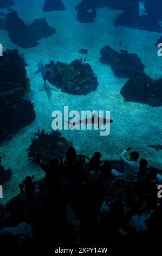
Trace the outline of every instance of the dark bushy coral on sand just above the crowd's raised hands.
<instances>
[{"instance_id":1,"label":"dark bushy coral on sand just above the crowd's raised hands","mask_svg":"<svg viewBox=\"0 0 162 256\"><path fill-rule=\"evenodd\" d=\"M48 162L52 157L60 158L66 155L69 147L73 146L72 142L68 142L66 138L61 136L58 131L45 132L37 130L34 137L31 138L31 144L27 149L29 160L36 161L36 153L40 150L41 159Z\"/></svg>"}]
</instances>

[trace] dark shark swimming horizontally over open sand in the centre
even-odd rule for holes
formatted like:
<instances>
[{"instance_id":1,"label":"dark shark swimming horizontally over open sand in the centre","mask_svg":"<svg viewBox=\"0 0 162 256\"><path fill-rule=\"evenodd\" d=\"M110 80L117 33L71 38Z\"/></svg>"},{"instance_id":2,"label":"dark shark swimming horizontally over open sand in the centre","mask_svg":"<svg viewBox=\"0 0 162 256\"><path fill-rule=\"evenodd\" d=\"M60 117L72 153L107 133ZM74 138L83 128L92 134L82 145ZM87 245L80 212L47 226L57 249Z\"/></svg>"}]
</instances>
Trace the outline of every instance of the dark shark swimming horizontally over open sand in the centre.
<instances>
[{"instance_id":1,"label":"dark shark swimming horizontally over open sand in the centre","mask_svg":"<svg viewBox=\"0 0 162 256\"><path fill-rule=\"evenodd\" d=\"M103 124L110 124L113 122L113 120L109 120L109 119L106 119L106 118L100 118L98 117L97 114L94 114L92 116L92 118L86 118L86 119L82 119L82 120L78 120L76 122L71 122L71 121L66 121L64 120L65 123L68 123L70 125L70 128L73 128L75 125L77 124L98 124L98 127L100 127L101 125Z\"/></svg>"}]
</instances>

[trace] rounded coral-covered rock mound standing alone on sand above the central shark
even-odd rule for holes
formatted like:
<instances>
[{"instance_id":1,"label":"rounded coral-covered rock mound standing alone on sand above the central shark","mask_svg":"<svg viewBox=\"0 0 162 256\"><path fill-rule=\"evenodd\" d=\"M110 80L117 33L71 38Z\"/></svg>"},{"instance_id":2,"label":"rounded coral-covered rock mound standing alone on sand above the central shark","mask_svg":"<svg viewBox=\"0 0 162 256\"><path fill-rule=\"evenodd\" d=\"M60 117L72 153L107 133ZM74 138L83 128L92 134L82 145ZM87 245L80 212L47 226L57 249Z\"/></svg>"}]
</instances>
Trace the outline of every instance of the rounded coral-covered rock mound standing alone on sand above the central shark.
<instances>
[{"instance_id":1,"label":"rounded coral-covered rock mound standing alone on sand above the central shark","mask_svg":"<svg viewBox=\"0 0 162 256\"><path fill-rule=\"evenodd\" d=\"M62 92L86 95L98 87L96 75L88 63L82 63L82 58L70 64L51 61L46 68L51 71L47 80Z\"/></svg>"}]
</instances>

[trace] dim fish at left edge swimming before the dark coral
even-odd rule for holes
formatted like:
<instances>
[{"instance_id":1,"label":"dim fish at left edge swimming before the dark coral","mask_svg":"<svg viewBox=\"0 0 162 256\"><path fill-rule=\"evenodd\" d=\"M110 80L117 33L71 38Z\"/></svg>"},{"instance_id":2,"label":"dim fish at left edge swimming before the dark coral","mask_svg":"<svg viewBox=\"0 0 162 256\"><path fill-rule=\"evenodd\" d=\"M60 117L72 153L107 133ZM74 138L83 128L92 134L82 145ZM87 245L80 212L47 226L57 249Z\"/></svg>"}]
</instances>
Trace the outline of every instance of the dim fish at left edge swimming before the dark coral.
<instances>
[{"instance_id":1,"label":"dim fish at left edge swimming before the dark coral","mask_svg":"<svg viewBox=\"0 0 162 256\"><path fill-rule=\"evenodd\" d=\"M25 92L30 93L30 80L27 78L24 83L12 83L12 82L3 82L0 81L0 96L13 94L18 90L24 90Z\"/></svg>"}]
</instances>

